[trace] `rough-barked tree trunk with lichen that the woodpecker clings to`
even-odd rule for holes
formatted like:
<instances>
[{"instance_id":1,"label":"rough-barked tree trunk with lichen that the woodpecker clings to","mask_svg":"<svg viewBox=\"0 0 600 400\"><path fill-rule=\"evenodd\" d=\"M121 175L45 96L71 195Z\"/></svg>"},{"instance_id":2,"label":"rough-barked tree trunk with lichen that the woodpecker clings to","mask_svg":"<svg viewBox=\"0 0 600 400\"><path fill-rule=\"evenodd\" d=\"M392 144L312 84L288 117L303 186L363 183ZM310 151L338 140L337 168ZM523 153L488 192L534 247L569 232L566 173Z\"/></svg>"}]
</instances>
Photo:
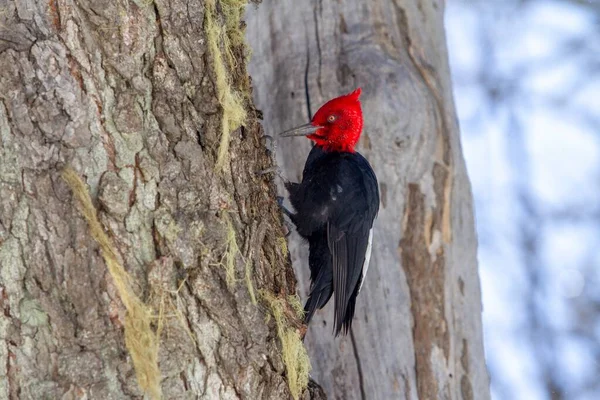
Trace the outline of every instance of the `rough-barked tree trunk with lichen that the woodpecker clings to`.
<instances>
[{"instance_id":1,"label":"rough-barked tree trunk with lichen that the woodpecker clings to","mask_svg":"<svg viewBox=\"0 0 600 400\"><path fill-rule=\"evenodd\" d=\"M243 3L0 2L0 399L301 391Z\"/></svg>"}]
</instances>

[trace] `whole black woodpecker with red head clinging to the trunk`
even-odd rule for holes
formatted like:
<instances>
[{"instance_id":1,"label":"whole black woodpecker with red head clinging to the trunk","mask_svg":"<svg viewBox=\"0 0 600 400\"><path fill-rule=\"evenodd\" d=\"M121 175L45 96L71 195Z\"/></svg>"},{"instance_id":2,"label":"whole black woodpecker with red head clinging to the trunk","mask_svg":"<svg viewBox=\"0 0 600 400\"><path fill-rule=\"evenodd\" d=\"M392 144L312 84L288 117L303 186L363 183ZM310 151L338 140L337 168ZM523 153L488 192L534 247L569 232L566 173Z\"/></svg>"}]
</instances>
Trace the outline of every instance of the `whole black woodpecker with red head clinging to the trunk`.
<instances>
[{"instance_id":1,"label":"whole black woodpecker with red head clinging to the trunk","mask_svg":"<svg viewBox=\"0 0 600 400\"><path fill-rule=\"evenodd\" d=\"M355 150L363 128L360 93L358 88L328 101L310 123L280 134L314 142L302 182L285 182L295 212L284 211L309 245L311 285L304 323L334 294L335 336L347 334L352 325L379 211L377 177Z\"/></svg>"}]
</instances>

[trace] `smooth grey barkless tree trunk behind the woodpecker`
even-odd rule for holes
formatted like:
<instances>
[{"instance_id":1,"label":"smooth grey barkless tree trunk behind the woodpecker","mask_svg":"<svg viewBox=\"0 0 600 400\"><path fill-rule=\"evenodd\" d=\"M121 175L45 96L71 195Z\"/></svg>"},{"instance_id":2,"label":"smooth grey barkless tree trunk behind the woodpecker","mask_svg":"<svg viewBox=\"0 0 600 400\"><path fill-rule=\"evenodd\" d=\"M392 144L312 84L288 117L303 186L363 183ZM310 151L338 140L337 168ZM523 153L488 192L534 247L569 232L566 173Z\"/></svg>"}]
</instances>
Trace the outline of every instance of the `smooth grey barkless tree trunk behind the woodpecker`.
<instances>
[{"instance_id":1,"label":"smooth grey barkless tree trunk behind the woodpecker","mask_svg":"<svg viewBox=\"0 0 600 400\"><path fill-rule=\"evenodd\" d=\"M282 0L248 15L250 72L267 134L363 88L359 151L379 178L381 209L352 334L334 339L332 306L307 333L312 377L330 398L490 396L443 8L440 0ZM301 179L309 148L304 138L279 143L290 179ZM303 299L306 247L292 237Z\"/></svg>"}]
</instances>

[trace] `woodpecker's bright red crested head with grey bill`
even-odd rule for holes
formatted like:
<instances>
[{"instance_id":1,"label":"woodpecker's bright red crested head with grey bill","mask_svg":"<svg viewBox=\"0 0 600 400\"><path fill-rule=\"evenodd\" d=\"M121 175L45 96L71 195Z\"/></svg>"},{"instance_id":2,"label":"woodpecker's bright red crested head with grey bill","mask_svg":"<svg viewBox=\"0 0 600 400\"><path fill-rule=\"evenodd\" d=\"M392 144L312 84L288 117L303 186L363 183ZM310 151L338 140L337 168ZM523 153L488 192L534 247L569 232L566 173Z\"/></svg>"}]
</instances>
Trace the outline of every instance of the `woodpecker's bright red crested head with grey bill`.
<instances>
[{"instance_id":1,"label":"woodpecker's bright red crested head with grey bill","mask_svg":"<svg viewBox=\"0 0 600 400\"><path fill-rule=\"evenodd\" d=\"M323 104L310 124L282 133L282 136L305 135L325 151L353 153L363 127L360 107L361 89Z\"/></svg>"}]
</instances>

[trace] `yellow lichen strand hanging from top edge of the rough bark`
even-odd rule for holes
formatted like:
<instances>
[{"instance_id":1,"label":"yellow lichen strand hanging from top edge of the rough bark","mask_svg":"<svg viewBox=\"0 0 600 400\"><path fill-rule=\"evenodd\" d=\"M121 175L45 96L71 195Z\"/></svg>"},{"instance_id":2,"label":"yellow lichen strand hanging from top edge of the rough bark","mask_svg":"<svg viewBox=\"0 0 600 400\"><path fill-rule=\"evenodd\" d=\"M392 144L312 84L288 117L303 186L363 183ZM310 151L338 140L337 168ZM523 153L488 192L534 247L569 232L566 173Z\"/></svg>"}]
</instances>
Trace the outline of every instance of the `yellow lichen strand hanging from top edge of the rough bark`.
<instances>
[{"instance_id":1,"label":"yellow lichen strand hanging from top edge of the rough bark","mask_svg":"<svg viewBox=\"0 0 600 400\"><path fill-rule=\"evenodd\" d=\"M244 40L240 22L245 3L243 0L222 0L221 10L225 24L221 25L216 20L216 0L206 0L204 29L208 49L212 57L217 99L223 112L221 140L216 162L217 170L223 168L225 164L231 132L238 129L246 120L244 96L233 88L232 79L224 61L224 58L226 58L229 69L236 66L233 46L242 44ZM223 50L221 50L221 47L223 47Z\"/></svg>"}]
</instances>

